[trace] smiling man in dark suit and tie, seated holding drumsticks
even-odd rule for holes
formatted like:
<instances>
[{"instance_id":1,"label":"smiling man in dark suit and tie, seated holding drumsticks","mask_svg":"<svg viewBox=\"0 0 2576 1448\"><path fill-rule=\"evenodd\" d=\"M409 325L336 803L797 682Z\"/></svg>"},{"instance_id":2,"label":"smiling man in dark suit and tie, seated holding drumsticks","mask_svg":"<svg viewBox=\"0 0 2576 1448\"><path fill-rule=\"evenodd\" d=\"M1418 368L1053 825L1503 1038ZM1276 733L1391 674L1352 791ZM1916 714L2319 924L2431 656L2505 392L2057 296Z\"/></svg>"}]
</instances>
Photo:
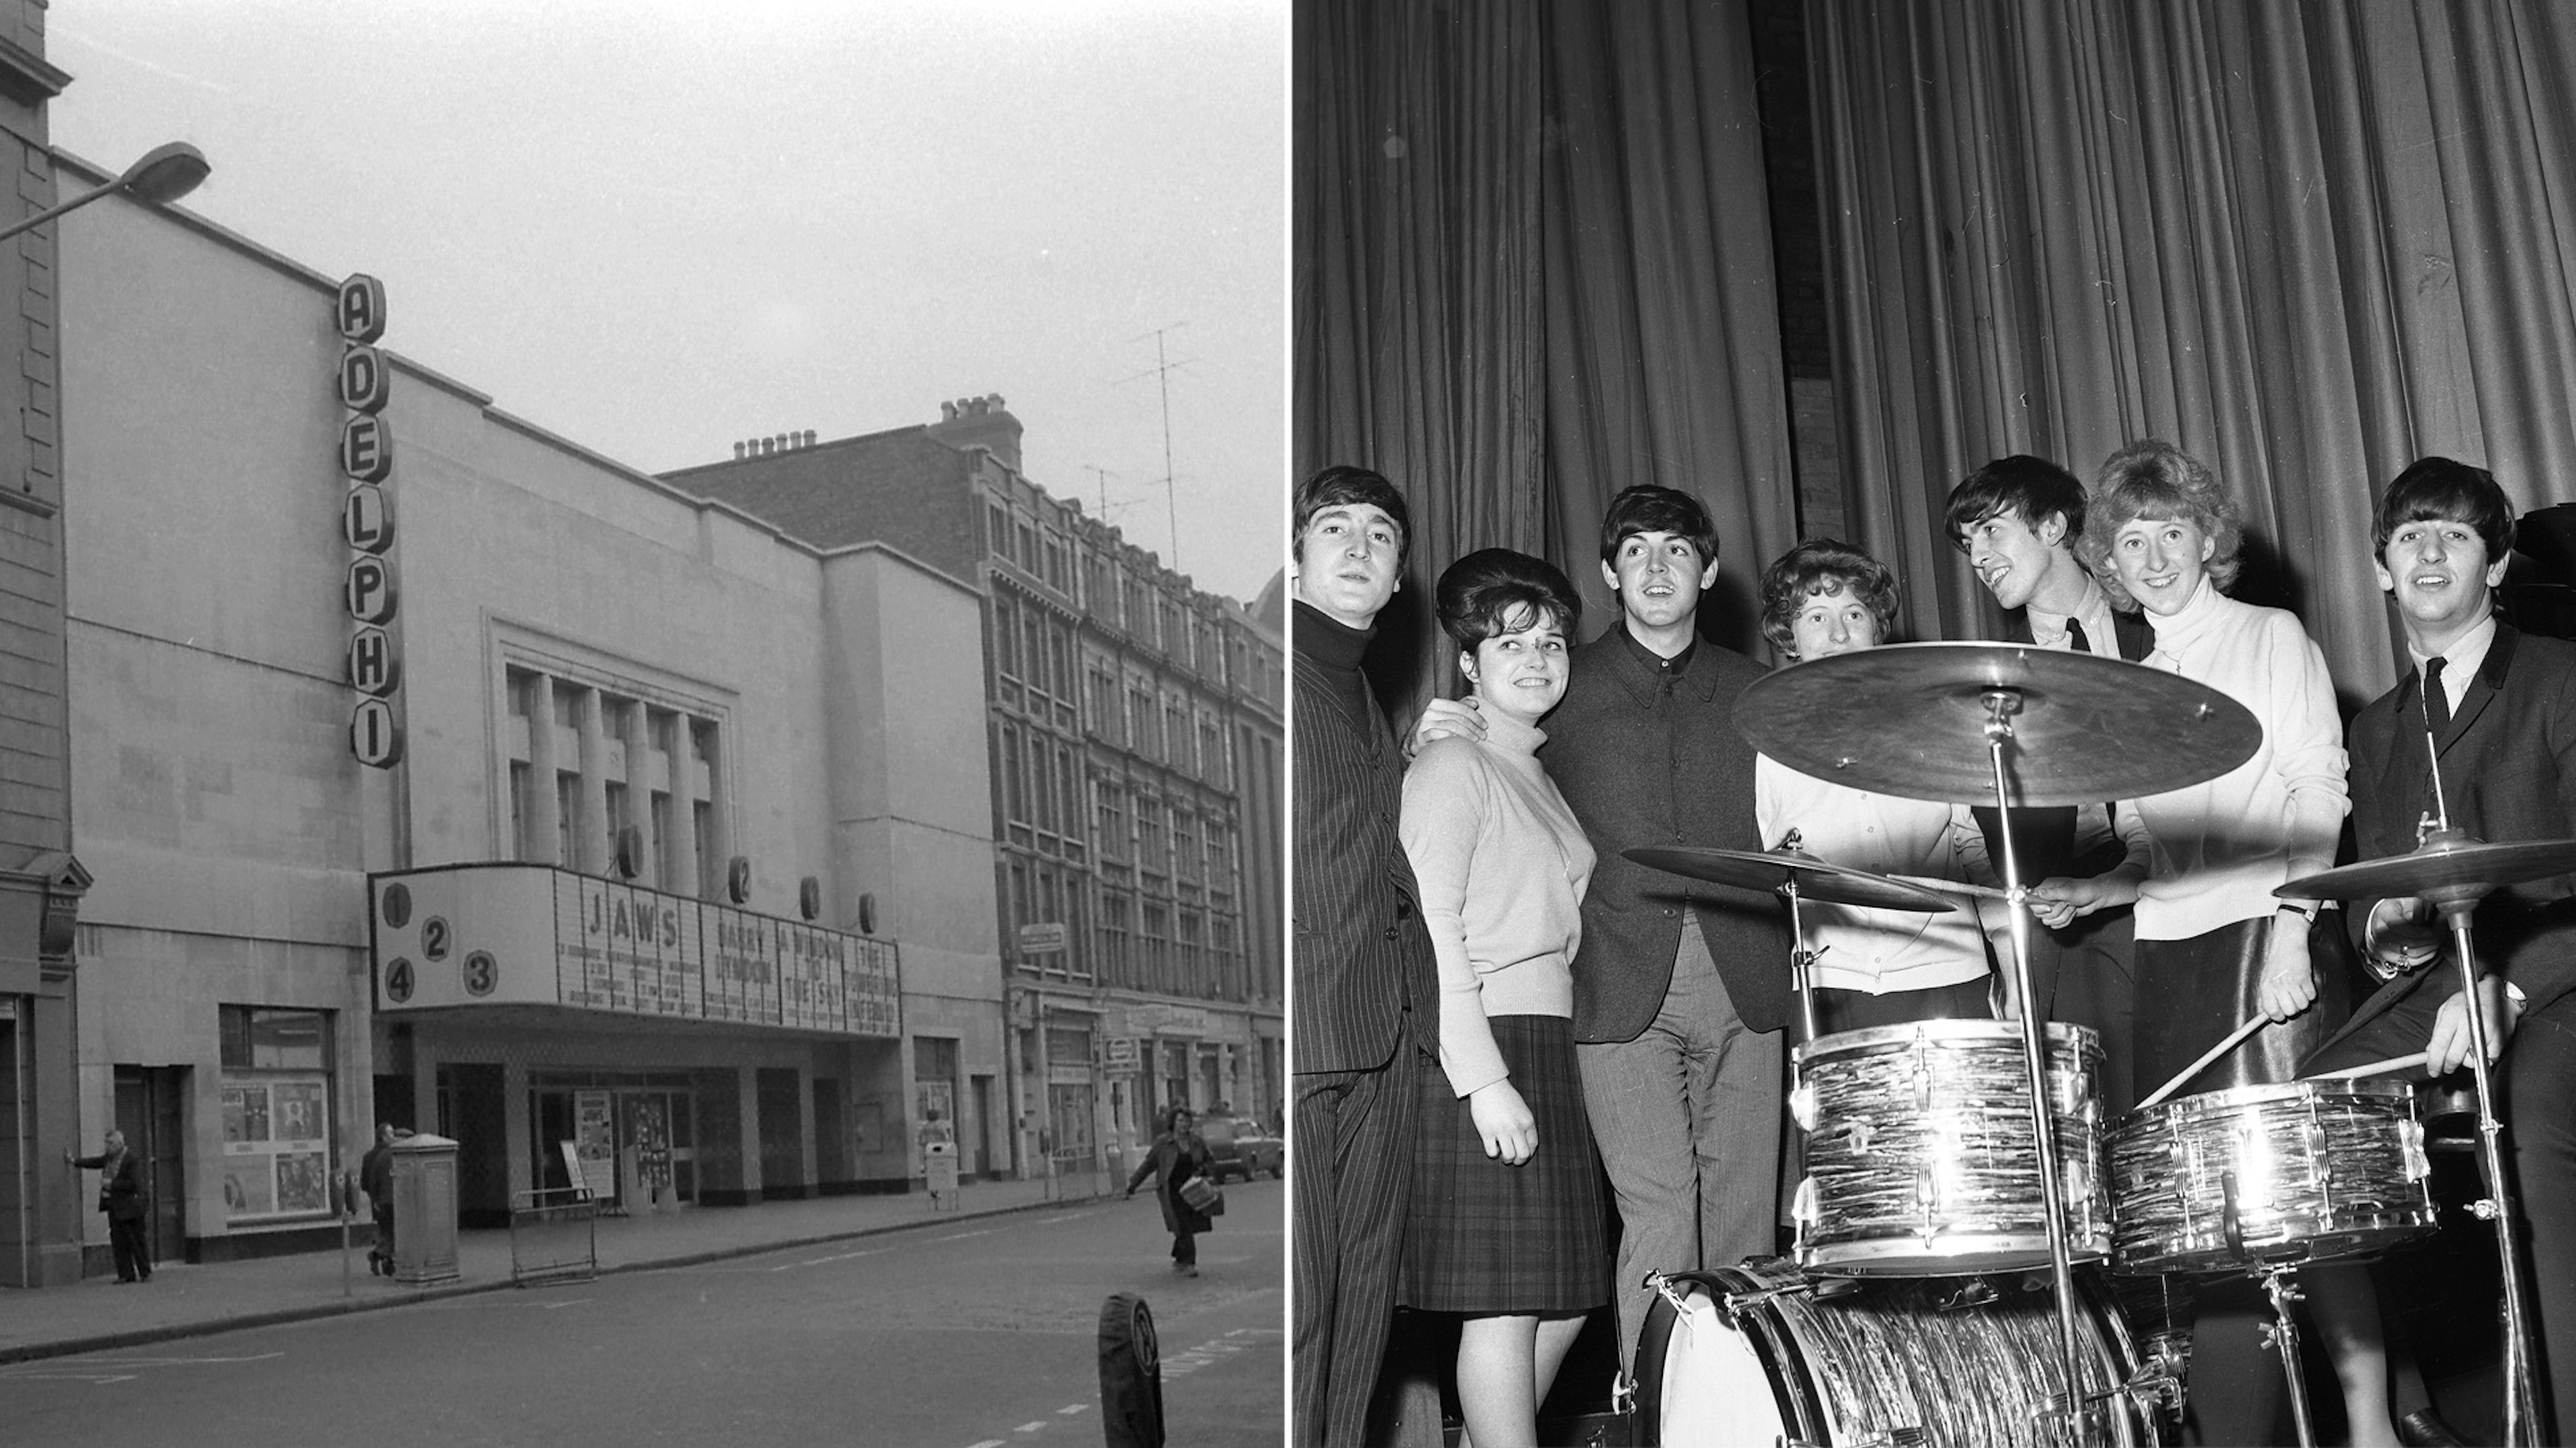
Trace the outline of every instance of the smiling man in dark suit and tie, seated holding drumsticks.
<instances>
[{"instance_id":1,"label":"smiling man in dark suit and tie, seated holding drumsticks","mask_svg":"<svg viewBox=\"0 0 2576 1448\"><path fill-rule=\"evenodd\" d=\"M2372 544L2380 587L2398 608L2414 670L2352 719L2352 840L2360 858L2414 853L2434 812L2427 732L2442 760L2450 822L2486 843L2576 837L2576 647L2517 631L2494 613L2514 546L2514 510L2496 479L2452 459L2421 459L2380 497ZM2468 1007L2447 930L2421 899L2352 902L2354 940L2391 974L2352 1020L2318 1046L2308 1072L2424 1051L2427 1072L2468 1062ZM2504 886L2478 902L2483 1015L2504 1051L2499 1085L2522 1242L2537 1296L2540 1386L2555 1427L2576 1430L2576 876ZM2367 1275L2313 1270L2311 1299L2347 1404L2354 1368L2378 1366L2378 1314ZM2360 1304L2336 1301L2360 1288ZM2385 1399L2385 1389L2380 1389ZM2398 1402L2406 1417L2406 1402ZM2414 1440L2424 1422L2406 1425ZM2354 1443L2365 1438L2354 1433Z\"/></svg>"}]
</instances>

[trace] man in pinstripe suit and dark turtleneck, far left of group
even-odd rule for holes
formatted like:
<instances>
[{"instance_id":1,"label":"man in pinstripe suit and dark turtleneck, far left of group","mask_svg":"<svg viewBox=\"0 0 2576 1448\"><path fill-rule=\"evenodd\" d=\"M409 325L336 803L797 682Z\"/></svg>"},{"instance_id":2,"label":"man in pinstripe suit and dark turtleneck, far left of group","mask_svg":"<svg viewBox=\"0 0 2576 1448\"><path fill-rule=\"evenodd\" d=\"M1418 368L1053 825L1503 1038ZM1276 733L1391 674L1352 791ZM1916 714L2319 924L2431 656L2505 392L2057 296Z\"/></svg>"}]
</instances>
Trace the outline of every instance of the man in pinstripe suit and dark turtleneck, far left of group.
<instances>
[{"instance_id":1,"label":"man in pinstripe suit and dark turtleneck, far left of group","mask_svg":"<svg viewBox=\"0 0 2576 1448\"><path fill-rule=\"evenodd\" d=\"M1409 551L1404 497L1332 466L1296 492L1291 660L1296 1317L1301 1448L1365 1443L1412 1188L1414 1072L1440 982L1396 840L1404 755L1360 672Z\"/></svg>"}]
</instances>

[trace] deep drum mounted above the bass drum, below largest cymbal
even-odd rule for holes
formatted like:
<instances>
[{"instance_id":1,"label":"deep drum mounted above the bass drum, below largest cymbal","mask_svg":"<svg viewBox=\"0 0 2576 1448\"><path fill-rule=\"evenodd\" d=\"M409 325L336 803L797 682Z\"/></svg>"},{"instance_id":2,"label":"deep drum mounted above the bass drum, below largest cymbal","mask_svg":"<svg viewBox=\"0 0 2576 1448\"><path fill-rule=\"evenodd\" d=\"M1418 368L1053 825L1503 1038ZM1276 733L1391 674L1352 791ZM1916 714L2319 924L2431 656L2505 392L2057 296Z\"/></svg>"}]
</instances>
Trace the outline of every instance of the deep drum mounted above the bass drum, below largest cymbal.
<instances>
[{"instance_id":1,"label":"deep drum mounted above the bass drum, below largest cymbal","mask_svg":"<svg viewBox=\"0 0 2576 1448\"><path fill-rule=\"evenodd\" d=\"M2076 1260L2110 1255L2099 1074L2089 1028L2048 1025L2058 1196ZM2048 1262L2020 1023L1819 1036L1798 1049L1790 1116L1806 1131L1793 1203L1801 1268L1922 1278Z\"/></svg>"}]
</instances>

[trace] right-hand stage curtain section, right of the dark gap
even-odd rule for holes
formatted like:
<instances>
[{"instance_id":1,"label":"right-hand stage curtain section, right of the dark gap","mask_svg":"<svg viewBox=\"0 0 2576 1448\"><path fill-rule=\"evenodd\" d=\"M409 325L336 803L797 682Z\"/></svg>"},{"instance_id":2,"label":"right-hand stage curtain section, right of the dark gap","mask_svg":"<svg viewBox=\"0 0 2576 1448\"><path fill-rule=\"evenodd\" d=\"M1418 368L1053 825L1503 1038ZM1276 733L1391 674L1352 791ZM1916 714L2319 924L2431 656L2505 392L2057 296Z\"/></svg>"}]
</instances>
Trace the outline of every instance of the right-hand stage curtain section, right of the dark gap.
<instances>
[{"instance_id":1,"label":"right-hand stage curtain section, right of the dark gap","mask_svg":"<svg viewBox=\"0 0 2576 1448\"><path fill-rule=\"evenodd\" d=\"M2347 701L2401 466L2576 495L2576 10L1816 0L1808 54L1847 505L1919 634L1991 636L1940 505L2004 453L2208 461Z\"/></svg>"}]
</instances>

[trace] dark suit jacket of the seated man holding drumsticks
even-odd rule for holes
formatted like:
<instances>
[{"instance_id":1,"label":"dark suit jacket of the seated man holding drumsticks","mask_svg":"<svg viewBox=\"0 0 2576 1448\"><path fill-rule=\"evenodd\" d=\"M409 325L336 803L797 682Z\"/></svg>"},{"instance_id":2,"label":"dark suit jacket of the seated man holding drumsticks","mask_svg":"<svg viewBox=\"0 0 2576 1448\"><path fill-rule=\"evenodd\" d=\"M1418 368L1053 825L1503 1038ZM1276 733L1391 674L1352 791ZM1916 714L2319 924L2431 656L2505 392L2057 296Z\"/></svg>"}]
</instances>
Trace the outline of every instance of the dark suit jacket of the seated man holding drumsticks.
<instances>
[{"instance_id":1,"label":"dark suit jacket of the seated man holding drumsticks","mask_svg":"<svg viewBox=\"0 0 2576 1448\"><path fill-rule=\"evenodd\" d=\"M2365 861L2414 853L2416 819L2432 809L2421 680L2421 670L2409 672L2352 719L2352 843ZM2576 644L2496 621L2496 642L2439 747L2452 824L2491 845L2576 835ZM2354 899L2344 910L2354 940L2372 904ZM2558 1000L2576 987L2576 876L2488 894L2478 902L2476 943L2478 966L2514 982L2527 1010ZM2398 976L2334 1041L2416 992L2439 1000L2458 989L2460 969L2450 961Z\"/></svg>"}]
</instances>

